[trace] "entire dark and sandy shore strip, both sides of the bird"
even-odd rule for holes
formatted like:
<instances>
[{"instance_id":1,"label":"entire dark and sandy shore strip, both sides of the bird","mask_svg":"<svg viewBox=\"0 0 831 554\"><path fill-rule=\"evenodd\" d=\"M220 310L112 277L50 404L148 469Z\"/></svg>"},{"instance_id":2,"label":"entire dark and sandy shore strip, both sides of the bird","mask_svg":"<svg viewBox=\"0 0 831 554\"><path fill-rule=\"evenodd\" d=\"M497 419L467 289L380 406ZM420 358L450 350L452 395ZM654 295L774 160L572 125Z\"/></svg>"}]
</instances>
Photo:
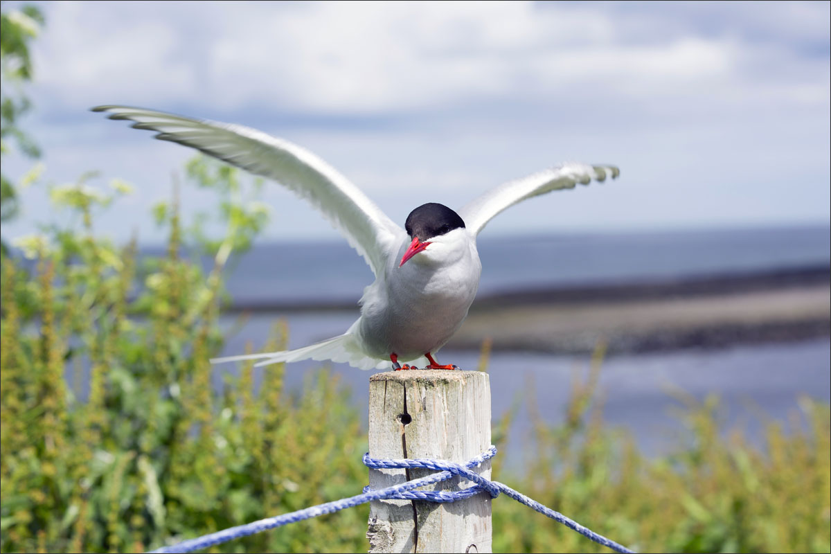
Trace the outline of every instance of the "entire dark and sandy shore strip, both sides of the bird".
<instances>
[{"instance_id":1,"label":"entire dark and sandy shore strip, both sides of the bird","mask_svg":"<svg viewBox=\"0 0 831 554\"><path fill-rule=\"evenodd\" d=\"M246 302L228 312L356 311L355 301ZM478 297L445 348L610 353L831 336L831 267L795 267Z\"/></svg>"}]
</instances>

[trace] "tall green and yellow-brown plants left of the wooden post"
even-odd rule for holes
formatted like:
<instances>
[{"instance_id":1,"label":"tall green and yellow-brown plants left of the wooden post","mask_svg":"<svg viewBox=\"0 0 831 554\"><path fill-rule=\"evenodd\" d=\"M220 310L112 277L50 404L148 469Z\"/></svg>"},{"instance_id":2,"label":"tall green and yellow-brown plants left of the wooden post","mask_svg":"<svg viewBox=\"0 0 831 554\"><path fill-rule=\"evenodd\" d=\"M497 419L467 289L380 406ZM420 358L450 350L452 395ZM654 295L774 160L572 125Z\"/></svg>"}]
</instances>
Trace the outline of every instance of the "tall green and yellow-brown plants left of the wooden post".
<instances>
[{"instance_id":1,"label":"tall green and yellow-brown plants left of the wooden post","mask_svg":"<svg viewBox=\"0 0 831 554\"><path fill-rule=\"evenodd\" d=\"M192 166L207 169L200 186L242 188L233 170ZM355 493L366 436L337 380L322 373L289 394L277 365L255 391L248 365L221 392L211 383L221 272L262 226L258 208L224 200L226 233L205 275L183 256L175 201L164 257L139 263L134 244L95 238L95 209L129 187L105 193L88 179L51 191L76 227L17 242L37 261L32 275L20 258L3 262L2 551L141 551ZM286 334L278 326L268 347ZM366 517L322 517L231 548L356 550Z\"/></svg>"}]
</instances>

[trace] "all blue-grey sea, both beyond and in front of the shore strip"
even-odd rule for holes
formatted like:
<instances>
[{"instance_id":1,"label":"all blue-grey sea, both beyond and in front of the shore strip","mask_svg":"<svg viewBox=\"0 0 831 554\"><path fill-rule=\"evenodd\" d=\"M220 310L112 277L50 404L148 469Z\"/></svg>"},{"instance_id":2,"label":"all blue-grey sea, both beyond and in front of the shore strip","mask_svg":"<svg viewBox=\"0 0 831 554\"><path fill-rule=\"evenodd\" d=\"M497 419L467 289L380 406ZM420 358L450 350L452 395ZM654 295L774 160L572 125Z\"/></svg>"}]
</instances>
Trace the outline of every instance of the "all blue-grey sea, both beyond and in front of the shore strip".
<instances>
[{"instance_id":1,"label":"all blue-grey sea, both beyond and in front of the shore strip","mask_svg":"<svg viewBox=\"0 0 831 554\"><path fill-rule=\"evenodd\" d=\"M827 224L671 232L558 233L546 236L479 238L482 278L479 297L529 288L618 285L804 267L831 263ZM373 276L347 243L273 243L255 246L229 268L227 283L242 306L276 306L240 320L229 313L224 355L243 352L247 342L263 346L275 321L288 322L289 347L336 336L358 316L363 287ZM286 306L285 310L280 306ZM332 309L332 306L346 306ZM829 306L831 312L831 306ZM241 322L242 321L242 322ZM440 360L475 369L475 351L440 352ZM326 366L352 390L366 422L370 372L348 365L306 361L289 364L286 380L299 388ZM743 429L762 446L764 424L804 424L803 402L831 400L829 337L718 350L610 355L602 363L597 398L607 424L631 434L647 455L669 453L688 439L679 408L684 402L720 399L723 430ZM518 410L509 434L509 465L524 459L533 409L550 424L562 422L575 378L585 379L588 355L494 352L488 371L494 420ZM262 380L259 368L255 382ZM214 386L234 365L215 367ZM687 400L681 400L686 398ZM536 406L536 408L533 408ZM795 422L795 423L794 423Z\"/></svg>"}]
</instances>

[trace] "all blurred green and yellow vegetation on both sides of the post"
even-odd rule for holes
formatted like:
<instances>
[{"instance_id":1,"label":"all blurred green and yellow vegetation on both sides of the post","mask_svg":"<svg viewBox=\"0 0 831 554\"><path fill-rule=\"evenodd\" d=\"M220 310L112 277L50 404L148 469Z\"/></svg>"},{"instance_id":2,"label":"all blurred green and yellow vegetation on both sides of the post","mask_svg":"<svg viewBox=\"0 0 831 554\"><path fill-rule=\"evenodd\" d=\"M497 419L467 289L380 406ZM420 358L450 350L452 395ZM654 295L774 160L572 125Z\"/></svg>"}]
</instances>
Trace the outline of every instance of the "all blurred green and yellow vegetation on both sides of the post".
<instances>
[{"instance_id":1,"label":"all blurred green and yellow vegetation on both sides of the post","mask_svg":"<svg viewBox=\"0 0 831 554\"><path fill-rule=\"evenodd\" d=\"M30 109L37 9L2 12L2 154L37 158L22 131ZM212 384L222 346L223 270L267 222L260 183L194 159L184 186L216 194L215 213L183 222L155 209L167 252L138 257L94 233L130 186L85 174L48 184L33 161L2 176L2 220L20 186L48 186L66 225L2 237L2 552L143 552L224 527L359 493L366 429L350 392L321 370L285 390L282 365L254 383L250 365ZM221 218L224 236L199 231ZM198 261L209 252L214 266ZM286 343L277 324L271 344ZM258 345L263 346L263 345ZM785 429L765 424L764 448L720 428L715 398L687 400L689 433L671 455L647 458L602 422L598 348L576 379L563 422L534 418L532 463L494 478L643 552L829 552L829 406L801 400ZM85 385L86 384L86 385ZM519 406L519 404L518 404ZM518 407L519 409L519 407ZM534 415L533 405L522 406ZM494 424L501 446L515 410ZM494 552L602 550L507 499L494 502ZM216 552L366 551L366 506L216 547Z\"/></svg>"}]
</instances>

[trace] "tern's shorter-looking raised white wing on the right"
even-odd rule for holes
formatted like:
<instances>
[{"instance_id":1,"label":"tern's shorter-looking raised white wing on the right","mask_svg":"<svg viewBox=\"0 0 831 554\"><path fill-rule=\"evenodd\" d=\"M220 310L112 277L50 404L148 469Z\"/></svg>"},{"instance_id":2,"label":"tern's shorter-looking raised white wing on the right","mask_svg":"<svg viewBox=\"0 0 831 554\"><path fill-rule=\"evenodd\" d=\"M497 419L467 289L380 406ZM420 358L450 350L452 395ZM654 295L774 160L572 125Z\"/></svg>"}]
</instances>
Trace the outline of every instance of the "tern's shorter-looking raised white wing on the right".
<instances>
[{"instance_id":1,"label":"tern's shorter-looking raised white wing on the right","mask_svg":"<svg viewBox=\"0 0 831 554\"><path fill-rule=\"evenodd\" d=\"M607 175L614 179L618 174L620 169L612 165L561 164L499 185L465 205L459 215L470 233L477 235L497 213L515 203L552 190L573 189L577 184L591 183L592 179L603 181Z\"/></svg>"}]
</instances>

